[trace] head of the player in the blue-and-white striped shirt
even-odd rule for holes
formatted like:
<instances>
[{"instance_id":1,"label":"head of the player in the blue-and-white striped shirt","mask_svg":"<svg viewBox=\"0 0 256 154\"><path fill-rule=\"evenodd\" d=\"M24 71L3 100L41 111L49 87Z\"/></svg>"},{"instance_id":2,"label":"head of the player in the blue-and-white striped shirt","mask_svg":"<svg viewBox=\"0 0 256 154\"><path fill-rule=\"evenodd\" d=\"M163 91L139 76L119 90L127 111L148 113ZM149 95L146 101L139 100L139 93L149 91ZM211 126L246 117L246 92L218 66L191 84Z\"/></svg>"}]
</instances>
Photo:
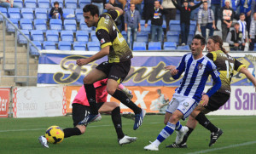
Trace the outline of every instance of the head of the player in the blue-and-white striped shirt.
<instances>
[{"instance_id":1,"label":"head of the player in the blue-and-white striped shirt","mask_svg":"<svg viewBox=\"0 0 256 154\"><path fill-rule=\"evenodd\" d=\"M196 34L195 37L193 37L192 43L191 43L191 53L194 57L197 57L202 54L202 50L206 46L206 39L202 37L199 34Z\"/></svg>"}]
</instances>

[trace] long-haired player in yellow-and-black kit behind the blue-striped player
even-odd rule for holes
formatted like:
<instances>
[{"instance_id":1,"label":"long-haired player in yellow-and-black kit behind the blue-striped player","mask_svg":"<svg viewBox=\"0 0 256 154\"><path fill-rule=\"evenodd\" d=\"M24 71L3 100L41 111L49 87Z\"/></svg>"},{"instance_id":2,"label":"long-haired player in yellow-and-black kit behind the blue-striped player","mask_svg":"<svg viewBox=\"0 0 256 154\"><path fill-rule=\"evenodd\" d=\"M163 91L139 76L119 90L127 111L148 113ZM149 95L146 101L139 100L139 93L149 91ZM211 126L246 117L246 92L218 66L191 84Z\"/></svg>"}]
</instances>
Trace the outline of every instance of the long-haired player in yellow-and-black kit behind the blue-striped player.
<instances>
[{"instance_id":1,"label":"long-haired player in yellow-and-black kit behind the blue-striped player","mask_svg":"<svg viewBox=\"0 0 256 154\"><path fill-rule=\"evenodd\" d=\"M211 140L209 146L213 145L218 140L218 137L223 134L223 131L213 125L207 119L205 114L209 113L210 111L217 111L220 106L224 106L224 104L230 99L230 82L234 70L245 74L246 77L253 83L253 85L256 86L256 79L247 70L246 66L227 54L222 45L223 41L220 37L212 36L208 38L207 50L209 53L207 54L207 57L210 60L213 60L213 63L217 66L218 71L220 72L220 79L222 83L221 88L218 89L218 92L212 94L207 106L201 106L200 104L191 113L186 124L186 126L189 128L189 131L183 136L183 141L180 144L174 143L172 145L167 145L166 147L186 148L186 142L189 138L189 134L191 134L195 129L197 122L200 123L204 128L207 128L209 131L211 131Z\"/></svg>"}]
</instances>

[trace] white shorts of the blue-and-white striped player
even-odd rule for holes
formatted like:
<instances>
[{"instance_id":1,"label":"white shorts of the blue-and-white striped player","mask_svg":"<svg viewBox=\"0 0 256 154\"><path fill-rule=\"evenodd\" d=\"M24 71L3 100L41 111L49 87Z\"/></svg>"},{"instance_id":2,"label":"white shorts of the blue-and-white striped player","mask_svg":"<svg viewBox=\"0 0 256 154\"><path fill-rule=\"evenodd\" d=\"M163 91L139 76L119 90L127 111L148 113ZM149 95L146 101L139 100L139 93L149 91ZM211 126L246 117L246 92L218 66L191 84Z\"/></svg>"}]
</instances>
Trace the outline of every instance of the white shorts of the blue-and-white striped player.
<instances>
[{"instance_id":1,"label":"white shorts of the blue-and-white striped player","mask_svg":"<svg viewBox=\"0 0 256 154\"><path fill-rule=\"evenodd\" d=\"M183 113L183 119L185 119L189 117L197 105L198 103L194 99L175 93L167 106L166 112L173 113L174 111L179 110Z\"/></svg>"}]
</instances>

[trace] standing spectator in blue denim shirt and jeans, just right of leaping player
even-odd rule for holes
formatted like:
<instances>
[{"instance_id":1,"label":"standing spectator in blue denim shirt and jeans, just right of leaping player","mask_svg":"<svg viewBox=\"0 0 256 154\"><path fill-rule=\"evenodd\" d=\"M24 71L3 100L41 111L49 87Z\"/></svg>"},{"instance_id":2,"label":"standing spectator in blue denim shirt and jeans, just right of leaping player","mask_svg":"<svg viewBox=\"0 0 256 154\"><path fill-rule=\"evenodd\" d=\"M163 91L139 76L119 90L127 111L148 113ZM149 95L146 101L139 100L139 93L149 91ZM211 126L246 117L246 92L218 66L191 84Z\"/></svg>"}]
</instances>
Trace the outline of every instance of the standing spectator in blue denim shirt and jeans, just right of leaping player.
<instances>
[{"instance_id":1,"label":"standing spectator in blue denim shirt and jeans, just right of leaping player","mask_svg":"<svg viewBox=\"0 0 256 154\"><path fill-rule=\"evenodd\" d=\"M132 48L132 41L136 42L137 31L141 31L141 15L138 10L135 9L135 4L131 3L130 11L125 12L125 31L127 32L127 43Z\"/></svg>"}]
</instances>

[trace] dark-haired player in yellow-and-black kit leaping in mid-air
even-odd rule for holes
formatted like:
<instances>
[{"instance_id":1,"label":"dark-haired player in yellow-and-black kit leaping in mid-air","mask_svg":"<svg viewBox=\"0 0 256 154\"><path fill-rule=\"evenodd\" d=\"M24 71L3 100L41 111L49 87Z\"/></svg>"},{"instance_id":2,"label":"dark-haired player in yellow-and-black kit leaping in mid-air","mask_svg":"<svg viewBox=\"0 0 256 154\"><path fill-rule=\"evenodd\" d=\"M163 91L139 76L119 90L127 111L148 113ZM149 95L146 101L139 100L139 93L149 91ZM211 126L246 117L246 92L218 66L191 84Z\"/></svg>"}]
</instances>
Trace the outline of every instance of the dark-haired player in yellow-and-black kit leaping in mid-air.
<instances>
[{"instance_id":1,"label":"dark-haired player in yellow-and-black kit leaping in mid-air","mask_svg":"<svg viewBox=\"0 0 256 154\"><path fill-rule=\"evenodd\" d=\"M84 88L89 100L91 112L84 123L100 118L96 106L96 92L93 83L108 77L107 91L115 99L122 102L125 106L134 111L135 123L133 129L136 130L143 123L145 111L134 104L122 91L118 90L119 83L122 83L131 68L131 48L125 41L117 26L114 23L119 15L123 14L123 10L113 7L107 3L105 9L108 13L99 16L96 5L88 4L84 7L84 21L88 27L96 26L96 37L101 42L101 50L87 59L77 60L78 66L84 66L94 60L101 59L108 55L108 61L102 62L99 66L84 77Z\"/></svg>"}]
</instances>

